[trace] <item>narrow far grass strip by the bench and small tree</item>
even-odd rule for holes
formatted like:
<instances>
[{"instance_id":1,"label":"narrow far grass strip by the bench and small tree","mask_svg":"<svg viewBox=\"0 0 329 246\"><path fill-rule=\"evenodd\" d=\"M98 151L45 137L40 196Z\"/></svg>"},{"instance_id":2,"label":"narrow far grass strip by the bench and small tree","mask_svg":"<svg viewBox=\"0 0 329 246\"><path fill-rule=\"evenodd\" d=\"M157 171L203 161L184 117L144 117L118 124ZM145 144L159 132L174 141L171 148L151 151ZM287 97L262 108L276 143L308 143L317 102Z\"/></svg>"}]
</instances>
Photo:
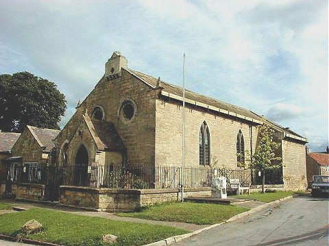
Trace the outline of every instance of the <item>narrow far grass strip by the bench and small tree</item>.
<instances>
[{"instance_id":1,"label":"narrow far grass strip by the bench and small tree","mask_svg":"<svg viewBox=\"0 0 329 246\"><path fill-rule=\"evenodd\" d=\"M230 195L230 197L255 199L260 202L274 202L283 197L287 197L289 195L295 195L298 193L302 193L302 192L296 192L296 191L276 191L276 192L267 192L267 193L253 192L250 193L250 195L232 195L232 196Z\"/></svg>"}]
</instances>

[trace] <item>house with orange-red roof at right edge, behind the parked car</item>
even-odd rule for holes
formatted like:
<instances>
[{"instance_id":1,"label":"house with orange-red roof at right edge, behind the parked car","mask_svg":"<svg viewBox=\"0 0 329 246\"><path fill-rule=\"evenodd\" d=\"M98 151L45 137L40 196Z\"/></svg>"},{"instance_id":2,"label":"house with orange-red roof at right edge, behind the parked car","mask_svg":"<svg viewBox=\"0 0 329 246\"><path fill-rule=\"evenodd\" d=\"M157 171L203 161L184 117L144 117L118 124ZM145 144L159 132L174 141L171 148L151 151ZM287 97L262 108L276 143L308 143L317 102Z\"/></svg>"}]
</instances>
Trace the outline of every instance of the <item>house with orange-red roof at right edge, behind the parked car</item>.
<instances>
[{"instance_id":1,"label":"house with orange-red roof at right edge, behind the parked car","mask_svg":"<svg viewBox=\"0 0 329 246\"><path fill-rule=\"evenodd\" d=\"M306 148L306 172L308 187L315 175L329 175L329 147L325 152L310 152Z\"/></svg>"}]
</instances>

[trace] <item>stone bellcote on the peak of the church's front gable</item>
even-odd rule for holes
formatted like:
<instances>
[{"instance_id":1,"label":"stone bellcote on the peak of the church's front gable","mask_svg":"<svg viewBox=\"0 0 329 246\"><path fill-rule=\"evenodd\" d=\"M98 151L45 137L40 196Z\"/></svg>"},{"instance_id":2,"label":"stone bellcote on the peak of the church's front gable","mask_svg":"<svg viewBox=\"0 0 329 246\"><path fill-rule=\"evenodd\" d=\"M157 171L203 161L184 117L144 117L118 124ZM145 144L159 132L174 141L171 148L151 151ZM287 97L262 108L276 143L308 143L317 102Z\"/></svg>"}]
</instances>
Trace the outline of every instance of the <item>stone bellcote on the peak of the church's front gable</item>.
<instances>
[{"instance_id":1,"label":"stone bellcote on the peak of the church's front gable","mask_svg":"<svg viewBox=\"0 0 329 246\"><path fill-rule=\"evenodd\" d=\"M127 59L119 51L114 51L112 57L105 64L105 77L110 79L119 77L121 68L127 68Z\"/></svg>"}]
</instances>

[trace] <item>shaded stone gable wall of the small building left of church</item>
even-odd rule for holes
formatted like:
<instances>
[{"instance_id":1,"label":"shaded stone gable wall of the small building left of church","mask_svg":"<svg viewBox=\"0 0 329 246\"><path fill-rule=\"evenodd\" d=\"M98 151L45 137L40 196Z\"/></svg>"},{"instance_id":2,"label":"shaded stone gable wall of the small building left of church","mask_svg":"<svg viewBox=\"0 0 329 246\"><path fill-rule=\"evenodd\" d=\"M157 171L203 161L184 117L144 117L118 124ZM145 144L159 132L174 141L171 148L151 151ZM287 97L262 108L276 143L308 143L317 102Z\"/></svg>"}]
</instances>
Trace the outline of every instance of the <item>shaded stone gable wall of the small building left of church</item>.
<instances>
[{"instance_id":1,"label":"shaded stone gable wall of the small building left of church","mask_svg":"<svg viewBox=\"0 0 329 246\"><path fill-rule=\"evenodd\" d=\"M21 134L12 147L12 156L23 156L23 163L42 163L47 160L42 160L42 148L28 129Z\"/></svg>"}]
</instances>

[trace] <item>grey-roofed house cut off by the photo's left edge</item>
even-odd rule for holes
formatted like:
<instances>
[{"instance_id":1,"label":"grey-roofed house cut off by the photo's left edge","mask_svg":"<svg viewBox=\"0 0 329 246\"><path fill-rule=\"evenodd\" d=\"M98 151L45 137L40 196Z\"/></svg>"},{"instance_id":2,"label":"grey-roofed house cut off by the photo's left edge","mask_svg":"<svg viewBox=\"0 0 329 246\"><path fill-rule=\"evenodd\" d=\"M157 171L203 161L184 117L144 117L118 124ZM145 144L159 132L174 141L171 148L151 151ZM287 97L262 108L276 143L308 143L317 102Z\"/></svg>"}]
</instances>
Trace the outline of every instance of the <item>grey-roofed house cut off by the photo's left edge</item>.
<instances>
[{"instance_id":1,"label":"grey-roofed house cut off by the photo's left edge","mask_svg":"<svg viewBox=\"0 0 329 246\"><path fill-rule=\"evenodd\" d=\"M5 180L4 160L12 156L12 146L16 143L21 133L0 132L0 182Z\"/></svg>"}]
</instances>

